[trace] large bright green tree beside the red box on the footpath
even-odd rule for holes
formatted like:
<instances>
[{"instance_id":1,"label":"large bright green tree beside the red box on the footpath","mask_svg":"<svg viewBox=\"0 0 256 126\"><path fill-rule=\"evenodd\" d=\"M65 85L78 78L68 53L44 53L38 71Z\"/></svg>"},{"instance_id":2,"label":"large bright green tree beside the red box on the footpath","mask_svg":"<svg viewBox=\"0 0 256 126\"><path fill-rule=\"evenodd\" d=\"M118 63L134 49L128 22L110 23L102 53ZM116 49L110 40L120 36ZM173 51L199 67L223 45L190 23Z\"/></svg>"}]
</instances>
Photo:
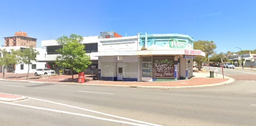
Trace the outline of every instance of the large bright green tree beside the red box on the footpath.
<instances>
[{"instance_id":1,"label":"large bright green tree beside the red box on the footpath","mask_svg":"<svg viewBox=\"0 0 256 126\"><path fill-rule=\"evenodd\" d=\"M82 72L92 64L90 57L85 54L83 39L81 35L71 34L61 36L56 40L61 48L56 50L59 55L55 63L71 70L72 82L74 82L73 71Z\"/></svg>"}]
</instances>

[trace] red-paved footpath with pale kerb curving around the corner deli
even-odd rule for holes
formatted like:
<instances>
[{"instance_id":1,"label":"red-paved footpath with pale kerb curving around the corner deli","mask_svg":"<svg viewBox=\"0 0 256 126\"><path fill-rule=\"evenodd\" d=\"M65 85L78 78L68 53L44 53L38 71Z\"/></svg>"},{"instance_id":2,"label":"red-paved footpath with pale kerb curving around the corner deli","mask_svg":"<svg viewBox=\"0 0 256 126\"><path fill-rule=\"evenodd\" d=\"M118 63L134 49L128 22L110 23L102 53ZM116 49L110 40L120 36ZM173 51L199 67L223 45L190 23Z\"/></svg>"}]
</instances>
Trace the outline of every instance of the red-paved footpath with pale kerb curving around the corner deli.
<instances>
[{"instance_id":1,"label":"red-paved footpath with pale kerb curving around the corner deli","mask_svg":"<svg viewBox=\"0 0 256 126\"><path fill-rule=\"evenodd\" d=\"M104 85L104 86L124 86L124 87L146 87L146 88L188 88L188 87L204 87L204 86L216 86L225 85L234 81L233 78L214 74L215 78L209 78L209 72L197 71L193 72L194 77L189 80L178 80L168 82L120 82L120 81L100 81L92 80L89 76L85 77L86 82L83 84L77 83L78 78L75 78L76 82L70 82L70 75L53 76L52 78L6 78L0 79L5 81L19 81L19 82L32 82L32 83L55 83L55 84L78 84L78 85ZM16 75L17 76L17 75ZM67 79L68 78L68 79ZM65 79L65 81L63 80Z\"/></svg>"}]
</instances>

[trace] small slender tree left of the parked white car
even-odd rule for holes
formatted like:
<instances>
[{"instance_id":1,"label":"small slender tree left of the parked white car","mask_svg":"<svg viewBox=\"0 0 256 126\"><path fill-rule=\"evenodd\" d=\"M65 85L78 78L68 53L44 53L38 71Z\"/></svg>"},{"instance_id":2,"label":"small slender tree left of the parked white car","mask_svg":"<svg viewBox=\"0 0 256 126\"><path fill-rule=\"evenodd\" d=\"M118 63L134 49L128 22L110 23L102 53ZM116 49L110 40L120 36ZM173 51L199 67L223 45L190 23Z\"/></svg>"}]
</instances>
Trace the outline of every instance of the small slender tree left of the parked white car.
<instances>
[{"instance_id":1,"label":"small slender tree left of the parked white car","mask_svg":"<svg viewBox=\"0 0 256 126\"><path fill-rule=\"evenodd\" d=\"M34 49L32 46L25 49L19 49L17 52L19 62L28 64L28 73L29 73L30 64L32 64L33 61L36 61L36 55L39 55L39 52L36 51L36 49ZM28 73L27 73L26 79L28 79Z\"/></svg>"}]
</instances>

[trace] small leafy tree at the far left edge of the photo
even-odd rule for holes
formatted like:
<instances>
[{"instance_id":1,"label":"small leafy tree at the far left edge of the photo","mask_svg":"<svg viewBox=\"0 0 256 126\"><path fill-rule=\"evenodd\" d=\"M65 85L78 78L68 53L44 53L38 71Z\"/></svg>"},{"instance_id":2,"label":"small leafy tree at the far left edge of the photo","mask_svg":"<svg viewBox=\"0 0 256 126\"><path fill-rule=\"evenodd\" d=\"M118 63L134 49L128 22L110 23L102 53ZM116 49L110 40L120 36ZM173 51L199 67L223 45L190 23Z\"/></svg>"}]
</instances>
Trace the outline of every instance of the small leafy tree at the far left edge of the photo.
<instances>
[{"instance_id":1,"label":"small leafy tree at the far left edge of the photo","mask_svg":"<svg viewBox=\"0 0 256 126\"><path fill-rule=\"evenodd\" d=\"M10 65L15 65L18 63L17 52L11 49L11 52L8 52L6 49L0 49L0 53L3 54L3 57L0 54L0 66L3 66L3 78L5 74L5 68Z\"/></svg>"}]
</instances>

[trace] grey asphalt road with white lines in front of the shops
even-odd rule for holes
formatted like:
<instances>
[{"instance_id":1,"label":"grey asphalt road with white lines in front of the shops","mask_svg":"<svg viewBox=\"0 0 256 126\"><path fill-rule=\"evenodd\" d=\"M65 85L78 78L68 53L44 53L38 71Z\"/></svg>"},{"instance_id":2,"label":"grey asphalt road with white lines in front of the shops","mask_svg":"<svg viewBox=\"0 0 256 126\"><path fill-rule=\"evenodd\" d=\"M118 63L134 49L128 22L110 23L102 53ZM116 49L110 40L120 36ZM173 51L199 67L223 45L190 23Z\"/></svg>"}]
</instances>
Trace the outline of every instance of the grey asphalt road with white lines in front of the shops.
<instances>
[{"instance_id":1,"label":"grey asphalt road with white lines in front of the shops","mask_svg":"<svg viewBox=\"0 0 256 126\"><path fill-rule=\"evenodd\" d=\"M230 75L255 73L228 70L225 71ZM23 101L0 103L1 126L256 124L256 83L253 80L186 89L0 81L0 92L28 96Z\"/></svg>"}]
</instances>

